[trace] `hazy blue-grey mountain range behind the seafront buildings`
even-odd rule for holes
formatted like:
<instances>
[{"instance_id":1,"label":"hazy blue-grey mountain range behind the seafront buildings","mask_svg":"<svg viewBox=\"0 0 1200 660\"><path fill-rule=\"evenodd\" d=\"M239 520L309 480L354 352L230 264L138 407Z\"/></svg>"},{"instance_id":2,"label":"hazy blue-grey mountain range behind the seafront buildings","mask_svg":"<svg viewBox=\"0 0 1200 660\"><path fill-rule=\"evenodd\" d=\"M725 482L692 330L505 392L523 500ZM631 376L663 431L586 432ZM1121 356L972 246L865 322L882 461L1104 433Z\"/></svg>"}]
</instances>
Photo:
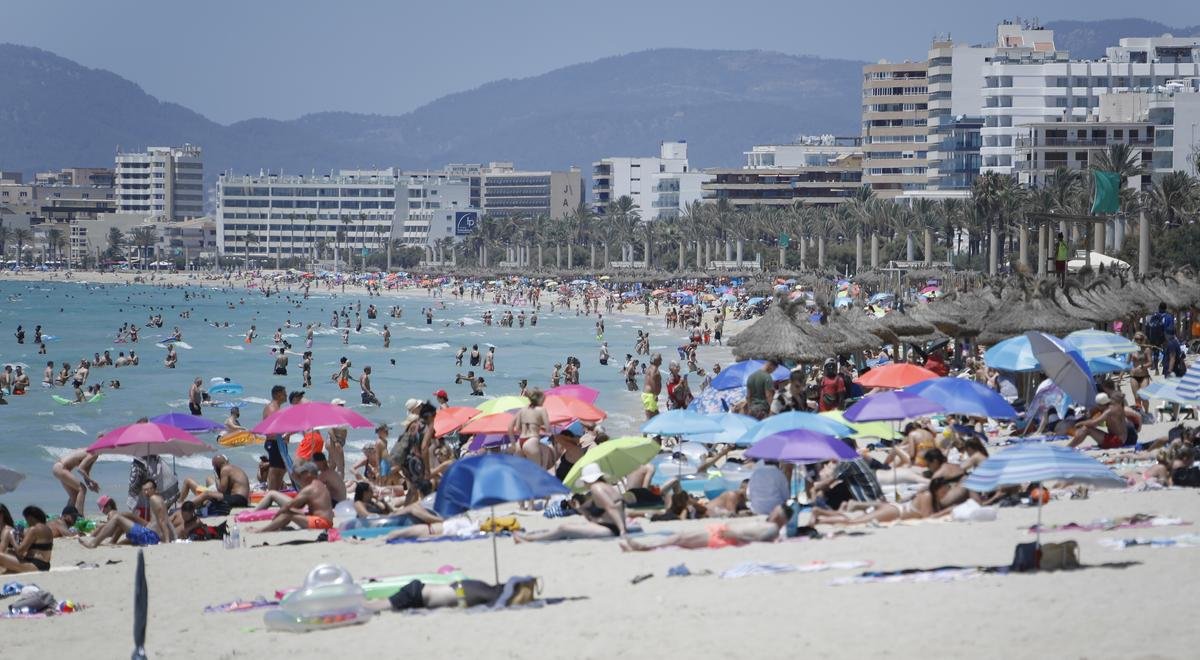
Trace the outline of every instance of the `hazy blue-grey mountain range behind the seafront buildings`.
<instances>
[{"instance_id":1,"label":"hazy blue-grey mountain range behind the seafront buildings","mask_svg":"<svg viewBox=\"0 0 1200 660\"><path fill-rule=\"evenodd\" d=\"M1141 19L1051 22L1061 48L1096 58L1121 36L1198 34ZM914 54L920 56L920 54ZM136 83L53 53L0 44L0 168L101 166L116 149L198 144L205 170L328 172L512 161L587 170L604 156L688 139L697 167L754 144L859 133L865 62L760 50L654 49L503 79L403 115L317 113L221 125Z\"/></svg>"}]
</instances>

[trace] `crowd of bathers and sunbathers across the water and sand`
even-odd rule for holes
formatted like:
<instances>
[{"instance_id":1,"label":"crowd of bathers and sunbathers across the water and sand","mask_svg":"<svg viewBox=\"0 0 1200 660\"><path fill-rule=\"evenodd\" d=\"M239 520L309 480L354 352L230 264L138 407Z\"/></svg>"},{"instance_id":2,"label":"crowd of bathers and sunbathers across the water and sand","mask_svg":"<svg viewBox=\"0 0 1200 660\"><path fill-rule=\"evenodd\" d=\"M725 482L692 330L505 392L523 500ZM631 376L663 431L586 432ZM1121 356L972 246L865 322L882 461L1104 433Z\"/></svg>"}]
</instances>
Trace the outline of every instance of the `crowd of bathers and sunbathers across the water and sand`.
<instances>
[{"instance_id":1,"label":"crowd of bathers and sunbathers across the water and sand","mask_svg":"<svg viewBox=\"0 0 1200 660\"><path fill-rule=\"evenodd\" d=\"M343 284L344 287L344 284ZM278 284L272 292L262 284L260 295L281 295L295 310L304 308L308 287L296 292L281 292ZM377 287L367 287L370 296L379 295ZM506 286L485 289L482 287L430 286L433 301L420 311L420 320L433 325L440 312L448 308L445 295L472 302L491 302L503 310L481 313L479 322L485 326L502 328L536 326L539 313L575 313L595 317L595 360L599 366L608 366L612 354L605 340L606 314L626 312L630 305L641 307L643 316L661 318L661 330L682 337L674 355L664 360L661 353L650 348L649 328L637 330L637 336L624 354L619 367L625 385L640 392L641 408L647 420L661 409L685 409L703 392L712 379L720 374L720 362L709 368L701 366L700 354L722 346L728 314L742 314L740 306L715 305L664 305L662 299L644 295L630 299L616 289L568 290L557 298L538 286ZM582 293L582 295L581 295ZM188 295L204 295L185 289ZM547 300L542 300L547 298ZM548 300L553 298L553 300ZM636 302L635 302L636 300ZM452 302L451 302L452 305ZM665 307L665 308L664 308ZM732 308L731 308L732 307ZM1165 311L1165 308L1164 308ZM362 331L362 316L377 319L380 310L374 304L362 308L362 301L341 305L329 318L329 328L340 331L343 343L350 332ZM386 318L400 322L403 310L392 306L383 312ZM181 316L182 319L187 317ZM204 319L205 324L222 326L222 320ZM443 322L452 323L452 322ZM461 323L461 322L460 322ZM1163 323L1159 320L1158 323ZM149 318L146 326L162 328L161 314ZM228 325L228 324L226 324ZM659 325L655 322L655 325ZM1166 323L1174 334L1174 318ZM295 389L274 385L269 402L263 407L260 419L266 419L288 406L308 401L324 383L314 386L312 378L314 334L322 323L292 318L289 311L282 325L275 326L271 341L272 373L289 376L290 356L301 361L300 379ZM286 329L304 328L305 350L295 353L284 337ZM390 346L390 330L383 325L382 342ZM116 337L119 342L138 343L138 326L122 325ZM24 342L24 330L17 330L18 342ZM43 340L42 329L35 329L35 343ZM620 538L626 551L650 550L662 546L720 548L750 542L769 542L787 535L818 534L817 526L856 526L888 523L902 520L936 518L950 515L955 506L966 502L979 505L1006 505L1020 503L1030 497L1042 497L1043 485L1025 485L1000 488L994 492L974 492L962 485L964 478L979 467L997 442L1007 433L1022 431L1045 433L1064 438L1070 446L1092 446L1121 451L1123 461L1153 461L1145 472L1130 475L1138 485L1196 485L1200 481L1195 458L1195 431L1180 426L1164 438L1142 438L1144 424L1153 413L1135 396L1127 398L1132 388L1148 384L1152 373L1172 370L1175 365L1157 358L1156 346L1142 332L1135 335L1139 352L1132 356L1129 383L1117 378L1100 378L1097 382L1099 396L1091 409L1076 409L1066 415L1057 408L1028 407L1026 426L1021 430L1001 427L996 421L961 415L922 418L910 421L894 437L875 438L874 444L863 445L853 438L844 442L853 449L856 457L844 461L816 462L806 466L772 461L751 461L742 456L732 445L713 445L708 452L689 464L691 473L709 469L738 475L737 482L714 497L703 497L683 487L679 479L659 482L655 466L647 464L629 474L605 474L596 463L582 466L575 484L569 484L577 494L556 498L546 503L547 516L566 520L557 527L514 533L518 542L553 541L559 539ZM179 326L166 342L164 366L175 368L178 356L174 343L184 341ZM245 334L245 343L258 341L257 326L251 325ZM1001 394L1009 401L1022 397L1036 400L1043 385L1021 389L1010 374L990 370L982 359L982 347L942 341L900 347L894 349L864 352L858 355L832 355L818 365L796 365L780 378L780 366L767 360L761 370L751 373L744 385L744 396L728 402L730 412L742 413L756 420L788 412L835 412L870 392L858 384L865 371L896 361L918 364L938 376L961 376L974 379ZM388 517L397 529L389 538L413 539L438 535L469 535L478 533L480 520L460 516L445 520L433 511L432 498L440 479L454 462L476 451L497 449L474 448L472 438L454 430L439 433L436 420L439 412L455 406L452 400L482 397L493 394L487 390L485 374L496 371L497 347L474 343L460 346L454 355L455 367L466 370L457 373L455 384L466 385L454 396L446 389L432 392L430 400L410 398L404 404L404 418L396 427L380 424L374 428L373 442L362 448L361 458L348 456L347 430L334 427L307 431L292 437L268 436L264 454L256 466L238 466L226 455L212 457L212 473L203 480L185 479L179 482L164 461L157 456L134 458L131 467L130 487L124 506L113 497L103 496L96 502L103 520L88 532L78 526L85 509L89 492L98 492L91 476L96 456L84 450L70 452L59 458L52 468L53 475L62 484L67 505L58 517L48 516L42 509L29 506L22 511L24 526L17 526L8 509L0 505L0 569L6 572L48 570L50 553L56 539L78 536L86 547L104 542L154 545L175 539L205 540L220 538L229 524L211 524L216 517L239 511L263 511L254 520L262 522L258 532L282 529L330 530L336 518ZM590 362L592 358L588 358ZM664 370L664 361L666 366ZM88 396L91 371L103 367L137 366L133 350L120 352L114 359L109 352L80 360L76 368L62 362L54 370L47 364L44 382L48 388L76 389L76 401ZM581 384L583 361L577 356L553 362L542 383L547 389L559 385ZM380 406L374 391L372 367L364 365L355 370L352 361L341 358L329 382L337 391L356 384L360 402ZM119 386L115 379L110 386ZM1045 382L1049 384L1049 382ZM1128 388L1127 388L1128 385ZM325 385L328 386L328 385ZM17 388L29 388L29 377L19 368L0 373L0 390L16 394ZM520 396L527 404L512 412L506 443L499 451L511 451L539 464L542 469L565 479L576 463L590 450L610 440L602 421L576 421L565 426L552 425L545 408L542 388L518 384ZM510 394L510 392L503 392ZM187 403L192 414L204 414L208 392L202 379L188 388ZM325 398L317 396L317 398ZM346 406L343 398L332 398L335 406ZM1180 414L1180 410L1175 410ZM257 422L257 420L254 420ZM254 422L244 421L240 407L228 409L222 420L226 434L246 433ZM460 425L461 426L461 425ZM672 450L677 438L655 438L664 450ZM1126 449L1136 448L1136 451ZM799 492L796 484L802 484ZM743 518L728 522L726 518ZM648 522L686 518L720 518L703 530L680 532L667 536L630 536Z\"/></svg>"}]
</instances>

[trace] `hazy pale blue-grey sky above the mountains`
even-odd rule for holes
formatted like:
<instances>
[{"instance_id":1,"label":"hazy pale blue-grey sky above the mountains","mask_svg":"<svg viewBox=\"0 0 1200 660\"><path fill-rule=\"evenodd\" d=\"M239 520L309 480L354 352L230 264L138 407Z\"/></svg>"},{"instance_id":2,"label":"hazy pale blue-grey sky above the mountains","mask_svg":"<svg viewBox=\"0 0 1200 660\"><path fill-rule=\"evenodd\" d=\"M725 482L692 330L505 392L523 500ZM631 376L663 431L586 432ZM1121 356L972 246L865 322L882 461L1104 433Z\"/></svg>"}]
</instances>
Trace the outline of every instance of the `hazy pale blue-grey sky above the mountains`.
<instances>
[{"instance_id":1,"label":"hazy pale blue-grey sky above the mountains","mask_svg":"<svg viewBox=\"0 0 1200 660\"><path fill-rule=\"evenodd\" d=\"M905 59L924 55L934 32L989 40L1013 14L1135 11L1200 23L1195 0L13 0L0 10L0 42L110 70L230 122L400 114L498 78L656 47Z\"/></svg>"}]
</instances>

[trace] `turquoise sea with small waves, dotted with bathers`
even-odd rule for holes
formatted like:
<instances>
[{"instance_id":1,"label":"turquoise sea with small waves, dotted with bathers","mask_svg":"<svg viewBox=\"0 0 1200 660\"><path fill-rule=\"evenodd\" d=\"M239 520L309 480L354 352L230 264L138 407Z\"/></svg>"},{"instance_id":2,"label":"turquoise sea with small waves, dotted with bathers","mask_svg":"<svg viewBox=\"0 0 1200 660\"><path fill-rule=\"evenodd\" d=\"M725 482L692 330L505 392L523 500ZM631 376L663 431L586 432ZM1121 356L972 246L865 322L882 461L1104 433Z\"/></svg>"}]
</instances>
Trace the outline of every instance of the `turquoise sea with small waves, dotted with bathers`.
<instances>
[{"instance_id":1,"label":"turquoise sea with small waves, dotted with bathers","mask_svg":"<svg viewBox=\"0 0 1200 660\"><path fill-rule=\"evenodd\" d=\"M184 299L188 294L198 298ZM479 344L485 353L490 344L496 349L496 372L487 373L488 396L515 394L517 380L524 378L530 386L550 386L554 362L565 362L574 355L582 362L581 382L600 390L598 406L610 413L607 427L611 434L634 432L640 424L635 414L640 410L636 392L624 388L619 373L625 353L632 352L634 336L638 329L652 330L654 349L664 355L673 354L676 338L668 338L660 317L606 316L606 336L612 360L608 366L599 365L599 341L595 337L595 317L576 316L575 311L550 312L546 296L536 326L527 322L524 328L486 326L480 322L485 310L492 310L498 319L505 307L482 302L457 301L430 298L424 292L408 295L367 298L365 292L347 289L347 293L313 292L308 300L296 290L264 298L253 289L220 289L200 284L180 288L162 288L140 284L112 286L86 282L0 282L0 362L28 365L32 386L24 396L10 396L8 406L0 406L0 466L26 475L16 492L0 496L0 502L10 509L19 510L25 504L38 504L56 512L66 504L66 493L50 475L54 460L74 449L86 446L98 433L131 424L140 416L155 416L170 412L187 412L187 389L192 379L200 377L205 386L214 378L229 378L245 386L241 397L242 421L246 426L257 424L262 406L266 403L272 385L283 384L288 390L301 389L300 354L305 350L304 328L283 328L287 319L293 323L320 323L313 341L313 388L308 397L329 401L341 396L372 421L386 421L396 428L404 418L403 404L408 398L428 398L445 389L451 404L475 406L479 397L468 396L467 384L455 384L455 373L466 373L455 366L454 355L460 346ZM352 331L348 344L342 344L341 329L330 326L334 310L362 302L362 330L353 330L354 310L350 310ZM378 318L368 320L367 305L374 302ZM436 308L433 324L427 325L420 311ZM403 308L400 320L388 317L388 310L398 305ZM230 308L232 306L232 308ZM191 318L180 318L190 311ZM516 313L517 308L514 308ZM527 308L527 312L529 310ZM148 319L162 314L162 328L146 328ZM214 328L221 322L222 328ZM224 328L224 322L229 328ZM114 343L118 329L124 323L140 326L137 343ZM383 348L383 325L390 325L391 347ZM24 344L17 344L13 332L20 324L25 329ZM250 325L258 329L258 340L245 344L244 337ZM47 342L47 354L40 355L32 343L34 328L42 326L44 335L55 338ZM184 335L185 348L178 349L178 368L163 366L166 348L156 346L161 337L170 335L174 326ZM272 336L283 328L284 338L292 343L288 376L274 376L274 356L270 353ZM42 371L48 360L55 364L55 372L62 361L72 370L79 360L95 353L109 350L115 359L118 352L133 349L140 356L137 367L94 368L89 383L119 379L121 388L106 386L104 397L96 403L60 404L53 394L72 397L67 388L44 389ZM350 389L338 390L330 379L338 358L347 356L352 373L364 366L372 367L372 384L383 403L382 408L359 404L356 383ZM395 360L395 365L391 364ZM476 373L482 373L476 368ZM224 408L205 408L204 416L223 421ZM347 450L347 462L360 457L359 448L373 438L372 430L353 430ZM215 437L202 436L215 445ZM395 439L395 431L392 434ZM253 475L260 446L222 450L235 463ZM211 472L210 455L179 458L175 466L180 479L203 476ZM127 487L130 458L102 456L92 470L101 484L101 493L124 500ZM89 494L88 512L95 514L95 494Z\"/></svg>"}]
</instances>

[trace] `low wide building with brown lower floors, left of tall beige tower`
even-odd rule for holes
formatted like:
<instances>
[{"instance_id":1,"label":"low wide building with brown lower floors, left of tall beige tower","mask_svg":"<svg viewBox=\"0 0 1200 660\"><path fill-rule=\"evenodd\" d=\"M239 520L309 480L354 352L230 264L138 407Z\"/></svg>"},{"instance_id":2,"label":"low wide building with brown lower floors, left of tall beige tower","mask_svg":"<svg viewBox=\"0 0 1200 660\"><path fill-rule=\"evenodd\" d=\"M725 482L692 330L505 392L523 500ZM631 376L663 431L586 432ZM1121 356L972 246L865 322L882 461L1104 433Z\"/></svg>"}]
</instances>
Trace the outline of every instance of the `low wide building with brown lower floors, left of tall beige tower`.
<instances>
[{"instance_id":1,"label":"low wide building with brown lower floors, left of tall beige tower","mask_svg":"<svg viewBox=\"0 0 1200 660\"><path fill-rule=\"evenodd\" d=\"M742 168L706 169L704 199L734 208L840 204L863 185L860 138L818 136L797 144L756 145Z\"/></svg>"}]
</instances>

